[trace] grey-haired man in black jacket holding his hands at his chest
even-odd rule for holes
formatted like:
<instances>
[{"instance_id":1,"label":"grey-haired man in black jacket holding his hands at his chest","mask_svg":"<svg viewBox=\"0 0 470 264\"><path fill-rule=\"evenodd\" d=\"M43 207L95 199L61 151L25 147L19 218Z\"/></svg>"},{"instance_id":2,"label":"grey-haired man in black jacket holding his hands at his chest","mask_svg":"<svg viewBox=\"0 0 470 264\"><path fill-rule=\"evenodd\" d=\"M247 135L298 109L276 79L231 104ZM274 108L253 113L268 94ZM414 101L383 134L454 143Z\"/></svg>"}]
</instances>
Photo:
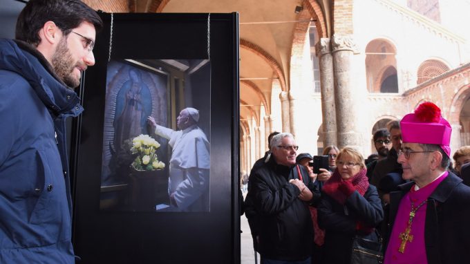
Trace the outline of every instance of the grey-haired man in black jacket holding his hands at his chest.
<instances>
[{"instance_id":1,"label":"grey-haired man in black jacket holding his hands at his chest","mask_svg":"<svg viewBox=\"0 0 470 264\"><path fill-rule=\"evenodd\" d=\"M306 169L296 166L298 147L292 134L275 135L270 143L271 158L250 176L247 194L258 219L261 263L310 264L313 228L308 205L314 187Z\"/></svg>"}]
</instances>

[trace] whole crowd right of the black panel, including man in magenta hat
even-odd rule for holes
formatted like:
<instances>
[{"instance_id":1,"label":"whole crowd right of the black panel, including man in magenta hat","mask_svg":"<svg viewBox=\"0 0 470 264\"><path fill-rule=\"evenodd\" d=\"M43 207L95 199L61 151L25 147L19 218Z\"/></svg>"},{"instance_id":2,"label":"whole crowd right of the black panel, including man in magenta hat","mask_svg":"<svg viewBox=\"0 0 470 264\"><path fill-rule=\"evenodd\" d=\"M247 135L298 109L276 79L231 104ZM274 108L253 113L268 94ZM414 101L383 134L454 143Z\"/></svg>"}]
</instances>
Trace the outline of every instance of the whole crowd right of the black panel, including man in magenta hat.
<instances>
[{"instance_id":1,"label":"whole crowd right of the black panel, including man in magenta hat","mask_svg":"<svg viewBox=\"0 0 470 264\"><path fill-rule=\"evenodd\" d=\"M326 147L328 168L297 153L292 134L272 133L244 202L261 263L361 263L357 238L382 245L371 263L467 262L470 147L455 151L453 167L450 138L431 102L375 131L367 159Z\"/></svg>"}]
</instances>

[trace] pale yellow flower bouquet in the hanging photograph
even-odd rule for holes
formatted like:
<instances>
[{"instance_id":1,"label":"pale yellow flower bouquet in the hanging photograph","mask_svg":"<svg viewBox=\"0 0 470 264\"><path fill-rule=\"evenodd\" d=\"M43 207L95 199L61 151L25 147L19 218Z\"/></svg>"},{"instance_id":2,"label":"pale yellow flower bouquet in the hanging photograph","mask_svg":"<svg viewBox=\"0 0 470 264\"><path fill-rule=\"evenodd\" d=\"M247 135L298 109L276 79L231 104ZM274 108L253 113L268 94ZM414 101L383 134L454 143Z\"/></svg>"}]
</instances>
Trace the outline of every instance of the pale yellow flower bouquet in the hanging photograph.
<instances>
[{"instance_id":1,"label":"pale yellow flower bouquet in the hanging photograph","mask_svg":"<svg viewBox=\"0 0 470 264\"><path fill-rule=\"evenodd\" d=\"M138 135L132 140L131 153L138 154L132 162L132 167L138 171L153 171L163 169L164 163L158 161L156 150L160 143L149 135Z\"/></svg>"}]
</instances>

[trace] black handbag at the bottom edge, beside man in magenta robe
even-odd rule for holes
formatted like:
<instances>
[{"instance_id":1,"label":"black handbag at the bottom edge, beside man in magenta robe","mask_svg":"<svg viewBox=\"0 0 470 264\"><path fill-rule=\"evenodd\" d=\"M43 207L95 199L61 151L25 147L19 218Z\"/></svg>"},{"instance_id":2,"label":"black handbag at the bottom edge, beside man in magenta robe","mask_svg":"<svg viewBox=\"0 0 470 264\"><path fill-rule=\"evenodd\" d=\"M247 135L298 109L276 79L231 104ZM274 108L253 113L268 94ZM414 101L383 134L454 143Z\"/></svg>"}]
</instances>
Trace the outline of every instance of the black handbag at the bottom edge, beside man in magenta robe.
<instances>
[{"instance_id":1,"label":"black handbag at the bottom edge, beside man in magenta robe","mask_svg":"<svg viewBox=\"0 0 470 264\"><path fill-rule=\"evenodd\" d=\"M382 251L382 238L377 230L378 241L371 241L361 236L353 238L353 252L351 253L351 264L382 264L384 263L384 252Z\"/></svg>"}]
</instances>

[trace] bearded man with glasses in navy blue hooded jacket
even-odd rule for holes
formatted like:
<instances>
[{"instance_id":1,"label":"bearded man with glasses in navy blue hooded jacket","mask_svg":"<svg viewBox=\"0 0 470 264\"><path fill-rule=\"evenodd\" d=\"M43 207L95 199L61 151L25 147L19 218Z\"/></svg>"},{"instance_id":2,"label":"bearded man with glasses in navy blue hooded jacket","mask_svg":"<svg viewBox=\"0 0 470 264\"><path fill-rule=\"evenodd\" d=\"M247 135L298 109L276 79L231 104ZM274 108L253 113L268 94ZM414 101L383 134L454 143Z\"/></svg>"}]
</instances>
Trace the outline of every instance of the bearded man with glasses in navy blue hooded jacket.
<instances>
[{"instance_id":1,"label":"bearded man with glasses in navy blue hooded jacket","mask_svg":"<svg viewBox=\"0 0 470 264\"><path fill-rule=\"evenodd\" d=\"M30 0L0 40L0 263L75 263L66 117L102 21L79 0Z\"/></svg>"}]
</instances>

